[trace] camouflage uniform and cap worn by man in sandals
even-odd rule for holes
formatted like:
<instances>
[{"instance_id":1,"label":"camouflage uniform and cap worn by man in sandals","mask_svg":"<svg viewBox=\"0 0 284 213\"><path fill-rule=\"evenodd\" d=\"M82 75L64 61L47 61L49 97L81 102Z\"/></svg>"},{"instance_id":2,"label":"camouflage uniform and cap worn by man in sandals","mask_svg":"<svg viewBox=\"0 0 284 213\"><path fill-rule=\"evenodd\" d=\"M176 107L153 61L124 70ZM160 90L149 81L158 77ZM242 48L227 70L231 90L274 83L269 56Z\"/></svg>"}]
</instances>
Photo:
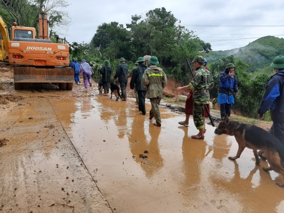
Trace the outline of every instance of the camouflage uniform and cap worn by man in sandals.
<instances>
[{"instance_id":1,"label":"camouflage uniform and cap worn by man in sandals","mask_svg":"<svg viewBox=\"0 0 284 213\"><path fill-rule=\"evenodd\" d=\"M203 63L202 56L196 56L194 62ZM194 77L189 84L193 90L193 121L197 129L204 129L203 116L204 106L209 103L209 89L213 87L213 78L209 70L204 66L196 69Z\"/></svg>"}]
</instances>

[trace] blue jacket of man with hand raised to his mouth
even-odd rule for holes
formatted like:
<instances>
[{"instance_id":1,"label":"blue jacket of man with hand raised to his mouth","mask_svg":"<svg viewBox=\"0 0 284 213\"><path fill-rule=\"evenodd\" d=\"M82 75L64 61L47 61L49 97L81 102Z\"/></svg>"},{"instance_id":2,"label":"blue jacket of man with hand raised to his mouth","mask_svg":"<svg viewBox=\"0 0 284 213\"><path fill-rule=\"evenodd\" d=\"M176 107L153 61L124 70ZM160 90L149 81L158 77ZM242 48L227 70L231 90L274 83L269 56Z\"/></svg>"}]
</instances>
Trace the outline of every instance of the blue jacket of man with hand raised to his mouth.
<instances>
[{"instance_id":1,"label":"blue jacket of man with hand raised to his mouth","mask_svg":"<svg viewBox=\"0 0 284 213\"><path fill-rule=\"evenodd\" d=\"M228 70L224 70L219 75L220 78L220 87L219 93L226 95L233 95L233 92L239 92L238 90L238 80L236 75L233 75L233 78L229 75Z\"/></svg>"}]
</instances>

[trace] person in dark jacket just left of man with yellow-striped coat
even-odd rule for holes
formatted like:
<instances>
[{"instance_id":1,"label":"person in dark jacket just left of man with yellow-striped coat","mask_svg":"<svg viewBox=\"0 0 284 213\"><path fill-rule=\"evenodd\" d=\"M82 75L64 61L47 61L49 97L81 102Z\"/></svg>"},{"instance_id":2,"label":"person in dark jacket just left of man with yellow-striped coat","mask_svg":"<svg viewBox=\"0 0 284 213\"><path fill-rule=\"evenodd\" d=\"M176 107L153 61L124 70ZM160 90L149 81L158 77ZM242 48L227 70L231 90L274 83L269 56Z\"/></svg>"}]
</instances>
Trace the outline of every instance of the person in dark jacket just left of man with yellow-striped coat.
<instances>
[{"instance_id":1,"label":"person in dark jacket just left of man with yellow-striped coat","mask_svg":"<svg viewBox=\"0 0 284 213\"><path fill-rule=\"evenodd\" d=\"M144 58L140 57L137 60L138 66L133 70L132 77L130 81L130 89L136 88L138 93L138 109L141 111L142 115L146 115L146 108L145 108L145 97L147 93L147 89L143 87L142 84L142 77L147 69L147 66L144 64Z\"/></svg>"}]
</instances>

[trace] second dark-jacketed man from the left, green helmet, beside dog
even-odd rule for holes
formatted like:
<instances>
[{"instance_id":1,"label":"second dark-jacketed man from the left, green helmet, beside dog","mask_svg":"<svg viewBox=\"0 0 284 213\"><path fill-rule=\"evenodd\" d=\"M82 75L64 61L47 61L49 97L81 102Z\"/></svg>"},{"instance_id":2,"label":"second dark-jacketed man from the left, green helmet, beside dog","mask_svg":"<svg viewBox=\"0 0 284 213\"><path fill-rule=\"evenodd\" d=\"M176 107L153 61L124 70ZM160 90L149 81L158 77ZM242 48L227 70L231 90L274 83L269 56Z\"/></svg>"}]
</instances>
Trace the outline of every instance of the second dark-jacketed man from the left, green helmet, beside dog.
<instances>
[{"instance_id":1,"label":"second dark-jacketed man from the left, green helmet, beside dog","mask_svg":"<svg viewBox=\"0 0 284 213\"><path fill-rule=\"evenodd\" d=\"M118 82L120 84L121 89L121 96L123 97L122 100L126 101L126 86L127 86L127 79L128 76L128 65L125 63L124 58L120 58L119 65L117 66L116 73L114 79L118 78Z\"/></svg>"}]
</instances>

